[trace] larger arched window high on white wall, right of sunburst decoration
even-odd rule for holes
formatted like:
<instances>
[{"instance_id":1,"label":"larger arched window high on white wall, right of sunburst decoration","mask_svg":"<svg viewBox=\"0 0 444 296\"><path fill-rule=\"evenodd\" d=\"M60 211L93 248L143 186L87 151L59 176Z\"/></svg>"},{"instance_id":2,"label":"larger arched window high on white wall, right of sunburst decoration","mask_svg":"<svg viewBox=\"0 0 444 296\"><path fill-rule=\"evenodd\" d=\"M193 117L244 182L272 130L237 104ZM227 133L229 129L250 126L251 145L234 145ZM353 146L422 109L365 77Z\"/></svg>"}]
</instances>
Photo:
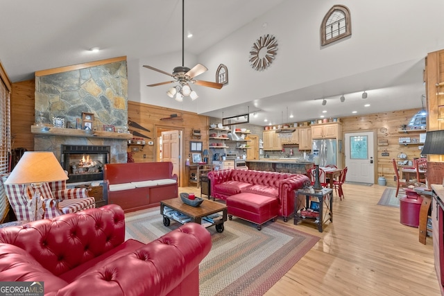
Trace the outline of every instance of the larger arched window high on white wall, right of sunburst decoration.
<instances>
[{"instance_id":1,"label":"larger arched window high on white wall, right of sunburst decoration","mask_svg":"<svg viewBox=\"0 0 444 296\"><path fill-rule=\"evenodd\" d=\"M330 44L349 35L352 35L350 10L342 5L333 6L322 21L321 45Z\"/></svg>"}]
</instances>

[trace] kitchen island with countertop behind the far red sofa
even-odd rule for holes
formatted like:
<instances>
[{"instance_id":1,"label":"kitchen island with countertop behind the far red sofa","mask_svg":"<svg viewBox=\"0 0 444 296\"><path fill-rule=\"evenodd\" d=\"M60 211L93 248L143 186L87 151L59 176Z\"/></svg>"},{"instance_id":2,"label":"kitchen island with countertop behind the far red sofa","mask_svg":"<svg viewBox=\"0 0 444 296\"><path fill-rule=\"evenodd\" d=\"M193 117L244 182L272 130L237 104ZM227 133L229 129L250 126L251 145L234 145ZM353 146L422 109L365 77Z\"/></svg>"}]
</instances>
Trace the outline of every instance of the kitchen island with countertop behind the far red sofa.
<instances>
[{"instance_id":1,"label":"kitchen island with countertop behind the far red sofa","mask_svg":"<svg viewBox=\"0 0 444 296\"><path fill-rule=\"evenodd\" d=\"M307 162L299 159L259 159L259 160L248 160L246 159L246 164L248 169L256 171L270 171L278 173L293 173L293 174L307 174L307 170L311 168L314 163Z\"/></svg>"}]
</instances>

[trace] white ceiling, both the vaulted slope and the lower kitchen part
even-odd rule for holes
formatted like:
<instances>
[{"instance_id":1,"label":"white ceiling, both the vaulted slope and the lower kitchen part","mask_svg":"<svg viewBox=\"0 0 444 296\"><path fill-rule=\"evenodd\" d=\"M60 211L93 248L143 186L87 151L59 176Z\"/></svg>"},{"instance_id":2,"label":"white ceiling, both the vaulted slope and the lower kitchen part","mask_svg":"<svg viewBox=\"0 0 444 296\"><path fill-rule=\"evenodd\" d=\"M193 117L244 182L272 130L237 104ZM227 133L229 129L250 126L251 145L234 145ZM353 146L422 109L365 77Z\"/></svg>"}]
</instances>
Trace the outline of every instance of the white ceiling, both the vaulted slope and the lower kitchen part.
<instances>
[{"instance_id":1,"label":"white ceiling, both the vaulted slope and the lower kitchen part","mask_svg":"<svg viewBox=\"0 0 444 296\"><path fill-rule=\"evenodd\" d=\"M191 32L194 37L185 42L185 51L198 57L283 2L286 1L187 0L185 33ZM137 60L181 51L180 0L2 0L1 8L0 61L12 82L32 79L35 71L71 64L122 55L128 60ZM402 17L412 21L415 16ZM224 21L226 19L229 21ZM420 26L421 20L416 24ZM422 33L427 34L427 31ZM443 38L434 38L438 40L435 44L438 50L444 45ZM98 54L88 51L94 46L101 49ZM425 94L422 70L427 52L418 51L416 57L407 61L362 73L357 71L352 76L332 78L264 98L251 98L232 107L214 103L213 109L203 114L232 116L245 113L249 107L250 111L259 110L260 114L252 117L250 123L266 125L264 118L273 124L293 121L287 119L287 110L288 115L298 113L295 121L305 121L319 118L323 109L328 110L328 117L343 117L353 116L354 110L359 116L421 107L420 98ZM366 55L377 58L372 53ZM363 90L368 92L367 100L360 98ZM345 103L339 100L342 94ZM327 105L321 105L322 98L327 99ZM364 107L367 102L370 107Z\"/></svg>"}]
</instances>

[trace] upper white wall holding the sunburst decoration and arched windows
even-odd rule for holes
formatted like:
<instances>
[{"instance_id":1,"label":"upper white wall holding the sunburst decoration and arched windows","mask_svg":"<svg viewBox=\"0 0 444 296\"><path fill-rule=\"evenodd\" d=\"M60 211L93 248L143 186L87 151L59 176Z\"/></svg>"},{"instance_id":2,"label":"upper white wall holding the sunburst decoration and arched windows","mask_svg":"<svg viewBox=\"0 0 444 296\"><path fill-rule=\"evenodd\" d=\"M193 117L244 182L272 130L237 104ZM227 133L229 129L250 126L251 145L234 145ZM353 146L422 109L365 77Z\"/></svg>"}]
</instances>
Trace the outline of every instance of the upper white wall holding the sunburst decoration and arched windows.
<instances>
[{"instance_id":1,"label":"upper white wall holding the sunburst decoration and arched windows","mask_svg":"<svg viewBox=\"0 0 444 296\"><path fill-rule=\"evenodd\" d=\"M138 67L140 81L140 85L128 86L128 98L202 113L395 64L413 67L427 53L444 48L442 0L343 0L341 4L350 9L352 35L321 47L321 22L336 4L331 0L284 1L198 57L186 56L187 67L198 61L209 69L198 76L201 80L214 81L221 63L229 71L229 85L221 90L194 86L200 98L193 103L169 99L165 95L167 87L146 87L169 77L144 69L142 64L170 72L181 64L180 53L146 58L138 65L128 62L128 78L137 73L130 68ZM268 26L263 28L265 22ZM248 63L249 51L253 42L265 34L277 38L278 53L266 71L255 71Z\"/></svg>"}]
</instances>

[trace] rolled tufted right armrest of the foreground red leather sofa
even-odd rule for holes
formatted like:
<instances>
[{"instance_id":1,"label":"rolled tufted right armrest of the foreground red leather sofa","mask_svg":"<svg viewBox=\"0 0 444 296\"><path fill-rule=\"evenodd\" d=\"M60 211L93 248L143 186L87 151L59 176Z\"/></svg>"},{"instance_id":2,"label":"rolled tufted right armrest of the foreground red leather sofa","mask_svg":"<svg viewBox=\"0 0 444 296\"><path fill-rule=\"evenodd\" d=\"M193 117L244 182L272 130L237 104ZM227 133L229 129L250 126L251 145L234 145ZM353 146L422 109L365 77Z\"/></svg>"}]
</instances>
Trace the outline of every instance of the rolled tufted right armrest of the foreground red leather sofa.
<instances>
[{"instance_id":1,"label":"rolled tufted right armrest of the foreground red leather sofa","mask_svg":"<svg viewBox=\"0 0 444 296\"><path fill-rule=\"evenodd\" d=\"M210 232L196 223L187 223L48 295L72 295L73 291L76 295L96 296L167 295L198 270L211 247Z\"/></svg>"}]
</instances>

